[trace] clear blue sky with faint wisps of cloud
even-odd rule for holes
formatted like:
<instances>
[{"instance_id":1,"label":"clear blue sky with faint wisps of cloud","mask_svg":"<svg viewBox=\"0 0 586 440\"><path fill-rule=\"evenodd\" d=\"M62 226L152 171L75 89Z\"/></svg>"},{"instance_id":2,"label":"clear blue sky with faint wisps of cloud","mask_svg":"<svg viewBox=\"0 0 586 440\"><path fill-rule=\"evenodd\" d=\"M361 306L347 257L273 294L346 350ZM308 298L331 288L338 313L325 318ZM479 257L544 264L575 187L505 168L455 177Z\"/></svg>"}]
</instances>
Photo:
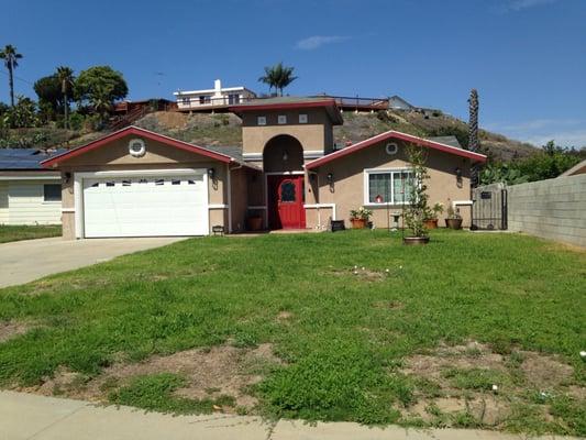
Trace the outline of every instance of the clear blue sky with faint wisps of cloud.
<instances>
[{"instance_id":1,"label":"clear blue sky with faint wisps of cloud","mask_svg":"<svg viewBox=\"0 0 586 440\"><path fill-rule=\"evenodd\" d=\"M215 78L265 92L263 67L283 61L290 95L400 95L465 119L475 87L484 128L586 145L586 0L22 0L2 14L22 95L58 65L103 64L130 99Z\"/></svg>"}]
</instances>

